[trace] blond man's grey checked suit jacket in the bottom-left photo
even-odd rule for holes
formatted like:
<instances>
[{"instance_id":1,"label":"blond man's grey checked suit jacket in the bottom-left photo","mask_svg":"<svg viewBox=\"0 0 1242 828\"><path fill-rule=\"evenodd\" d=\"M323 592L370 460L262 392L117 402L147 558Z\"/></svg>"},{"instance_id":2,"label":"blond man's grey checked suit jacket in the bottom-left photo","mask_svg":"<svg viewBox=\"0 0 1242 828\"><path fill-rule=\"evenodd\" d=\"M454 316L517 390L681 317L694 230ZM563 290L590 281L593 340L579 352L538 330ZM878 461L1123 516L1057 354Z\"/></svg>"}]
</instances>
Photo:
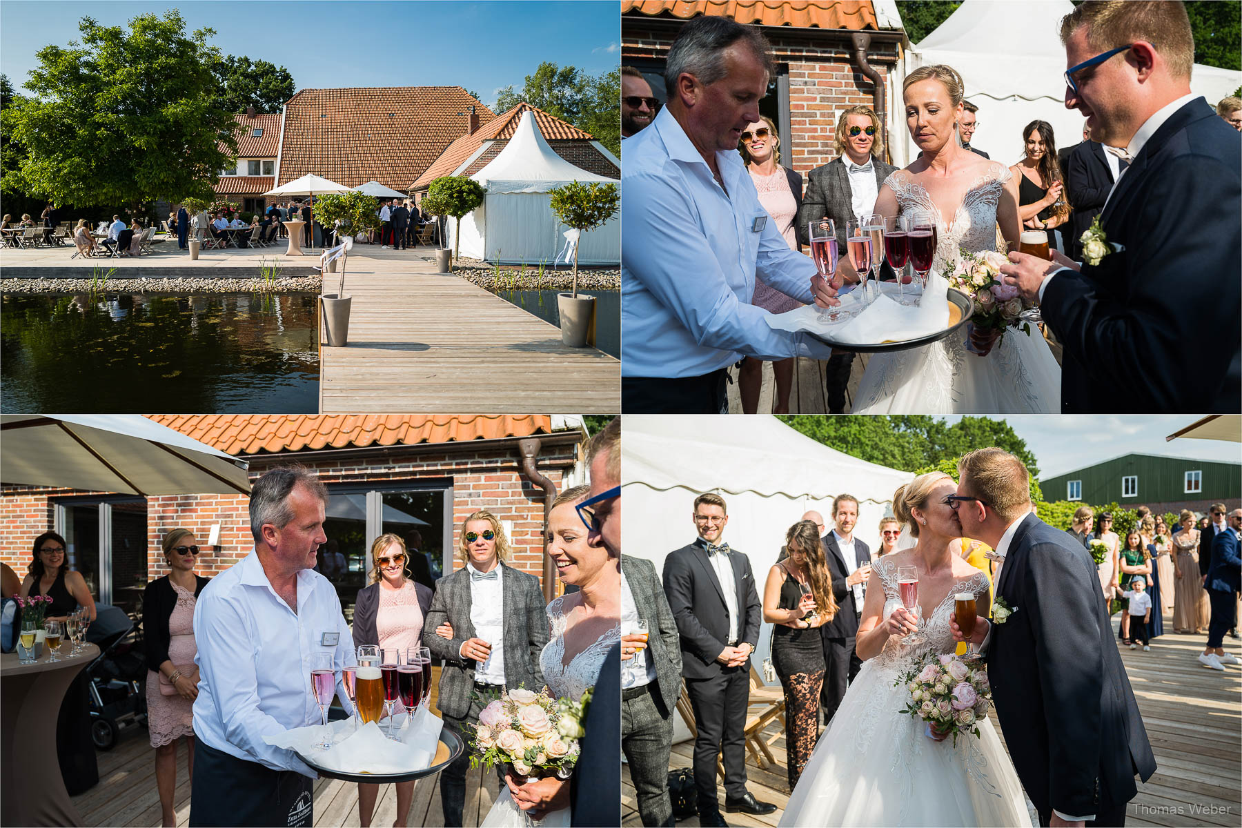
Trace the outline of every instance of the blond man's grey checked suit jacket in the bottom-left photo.
<instances>
[{"instance_id":1,"label":"blond man's grey checked suit jacket in the bottom-left photo","mask_svg":"<svg viewBox=\"0 0 1242 828\"><path fill-rule=\"evenodd\" d=\"M510 690L525 685L528 690L542 690L543 672L539 653L548 643L548 613L544 608L539 578L504 567L501 577L504 603L504 686ZM443 660L440 672L440 710L448 716L463 719L469 713L474 690L474 659L461 657L462 644L474 637L474 624L469 619L471 588L469 570L465 566L452 575L436 581L436 593L431 598L422 628L422 646L432 655ZM436 627L448 622L453 627L452 639L436 634Z\"/></svg>"}]
</instances>

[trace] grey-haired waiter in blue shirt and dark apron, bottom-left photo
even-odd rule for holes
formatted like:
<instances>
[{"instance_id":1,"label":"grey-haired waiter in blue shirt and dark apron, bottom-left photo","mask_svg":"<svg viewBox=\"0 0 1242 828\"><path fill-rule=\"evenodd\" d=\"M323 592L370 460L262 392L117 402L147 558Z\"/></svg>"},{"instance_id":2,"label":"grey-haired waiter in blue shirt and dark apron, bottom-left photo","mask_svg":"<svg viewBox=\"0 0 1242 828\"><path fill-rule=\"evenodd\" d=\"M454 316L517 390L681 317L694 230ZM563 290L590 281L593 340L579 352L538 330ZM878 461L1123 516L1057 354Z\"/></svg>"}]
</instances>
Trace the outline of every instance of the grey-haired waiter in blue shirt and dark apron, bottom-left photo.
<instances>
[{"instance_id":1,"label":"grey-haired waiter in blue shirt and dark apron, bottom-left photo","mask_svg":"<svg viewBox=\"0 0 1242 828\"><path fill-rule=\"evenodd\" d=\"M335 587L310 570L327 505L304 468L265 473L250 492L255 551L199 596L191 826L314 824L318 775L263 737L319 725L308 662L343 664L354 647ZM339 680L337 695L351 713Z\"/></svg>"}]
</instances>

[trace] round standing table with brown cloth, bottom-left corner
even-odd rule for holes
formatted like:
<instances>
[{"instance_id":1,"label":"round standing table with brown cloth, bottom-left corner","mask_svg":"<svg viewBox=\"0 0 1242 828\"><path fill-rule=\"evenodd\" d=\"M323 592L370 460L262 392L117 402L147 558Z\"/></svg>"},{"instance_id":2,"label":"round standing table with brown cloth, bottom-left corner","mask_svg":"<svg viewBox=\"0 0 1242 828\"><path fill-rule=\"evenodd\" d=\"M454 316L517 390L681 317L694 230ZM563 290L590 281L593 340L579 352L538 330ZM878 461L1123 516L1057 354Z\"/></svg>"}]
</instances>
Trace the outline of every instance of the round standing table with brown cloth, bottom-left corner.
<instances>
[{"instance_id":1,"label":"round standing table with brown cloth, bottom-left corner","mask_svg":"<svg viewBox=\"0 0 1242 828\"><path fill-rule=\"evenodd\" d=\"M70 684L99 655L86 644L79 655L60 662L43 655L22 664L17 653L0 655L0 823L6 826L81 826L56 756L56 719Z\"/></svg>"}]
</instances>

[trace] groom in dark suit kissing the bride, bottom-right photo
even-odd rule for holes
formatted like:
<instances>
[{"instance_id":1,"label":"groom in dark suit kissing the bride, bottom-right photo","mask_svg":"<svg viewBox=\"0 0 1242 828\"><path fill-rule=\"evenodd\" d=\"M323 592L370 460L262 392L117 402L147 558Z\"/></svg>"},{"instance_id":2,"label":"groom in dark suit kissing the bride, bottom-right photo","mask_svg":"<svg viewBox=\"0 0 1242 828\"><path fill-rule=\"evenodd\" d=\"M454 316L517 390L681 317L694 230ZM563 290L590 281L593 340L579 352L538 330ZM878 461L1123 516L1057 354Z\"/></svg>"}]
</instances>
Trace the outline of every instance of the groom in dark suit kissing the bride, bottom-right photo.
<instances>
[{"instance_id":1,"label":"groom in dark suit kissing the bride, bottom-right photo","mask_svg":"<svg viewBox=\"0 0 1242 828\"><path fill-rule=\"evenodd\" d=\"M1041 826L1123 826L1135 772L1155 773L1146 730L1122 664L1095 564L1040 520L1022 462L980 448L958 462L949 505L961 531L1000 560L994 607L971 642L987 657L996 719ZM950 629L963 641L956 614Z\"/></svg>"}]
</instances>

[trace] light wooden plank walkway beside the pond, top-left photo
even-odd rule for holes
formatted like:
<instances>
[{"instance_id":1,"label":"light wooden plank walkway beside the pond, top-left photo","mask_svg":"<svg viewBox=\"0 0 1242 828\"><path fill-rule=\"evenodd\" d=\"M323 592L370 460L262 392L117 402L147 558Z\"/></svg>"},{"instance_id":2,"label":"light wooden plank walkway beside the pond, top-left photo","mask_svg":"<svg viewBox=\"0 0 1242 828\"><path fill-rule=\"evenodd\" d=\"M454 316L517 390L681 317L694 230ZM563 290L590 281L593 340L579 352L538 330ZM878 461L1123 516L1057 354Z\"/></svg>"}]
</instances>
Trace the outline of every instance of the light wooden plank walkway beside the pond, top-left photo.
<instances>
[{"instance_id":1,"label":"light wooden plank walkway beside the pond, top-left photo","mask_svg":"<svg viewBox=\"0 0 1242 828\"><path fill-rule=\"evenodd\" d=\"M351 256L345 293L349 344L322 349L323 413L621 410L620 360L563 345L556 326L421 257Z\"/></svg>"}]
</instances>

